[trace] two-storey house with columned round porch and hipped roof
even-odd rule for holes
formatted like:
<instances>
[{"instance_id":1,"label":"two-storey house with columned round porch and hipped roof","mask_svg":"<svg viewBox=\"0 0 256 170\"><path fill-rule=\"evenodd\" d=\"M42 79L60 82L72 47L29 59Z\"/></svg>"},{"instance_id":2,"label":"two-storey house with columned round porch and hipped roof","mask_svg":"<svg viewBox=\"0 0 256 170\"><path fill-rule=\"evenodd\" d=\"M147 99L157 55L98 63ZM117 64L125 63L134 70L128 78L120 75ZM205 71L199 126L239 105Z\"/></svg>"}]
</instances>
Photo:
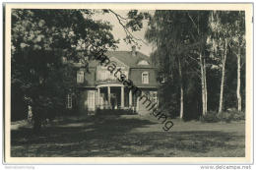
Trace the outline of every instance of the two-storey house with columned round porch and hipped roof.
<instances>
[{"instance_id":1,"label":"two-storey house with columned round porch and hipped roof","mask_svg":"<svg viewBox=\"0 0 256 170\"><path fill-rule=\"evenodd\" d=\"M77 88L79 96L76 104L80 112L94 113L96 109L133 109L138 114L148 112L144 100L123 85L117 77L122 73L149 96L150 100L158 103L158 82L154 64L149 56L136 51L108 51L105 56L116 66L115 71L109 71L108 66L100 65L98 60L91 61L87 70L83 67L77 71ZM67 96L67 107L72 108L74 99Z\"/></svg>"}]
</instances>

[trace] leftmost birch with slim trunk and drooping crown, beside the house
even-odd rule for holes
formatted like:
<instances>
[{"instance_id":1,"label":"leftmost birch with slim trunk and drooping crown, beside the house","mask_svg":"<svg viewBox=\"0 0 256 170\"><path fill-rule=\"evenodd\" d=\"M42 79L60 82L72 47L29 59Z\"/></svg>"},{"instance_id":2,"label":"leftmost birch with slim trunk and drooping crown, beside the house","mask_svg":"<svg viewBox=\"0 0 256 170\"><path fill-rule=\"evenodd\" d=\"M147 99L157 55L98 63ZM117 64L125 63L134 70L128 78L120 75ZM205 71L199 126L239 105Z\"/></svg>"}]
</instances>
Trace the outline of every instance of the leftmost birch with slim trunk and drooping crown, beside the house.
<instances>
[{"instance_id":1,"label":"leftmost birch with slim trunk and drooping crown, beside the house","mask_svg":"<svg viewBox=\"0 0 256 170\"><path fill-rule=\"evenodd\" d=\"M165 20L164 22L163 19ZM178 82L180 88L180 97L179 97L179 117L183 118L184 115L184 89L183 89L183 67L182 58L184 55L181 46L184 46L187 38L187 28L184 25L186 17L185 14L179 11L156 11L155 16L151 19L147 30L146 38L156 45L158 51L164 51L165 55L159 55L158 52L155 53L154 57L157 60L160 60L159 68L166 67L167 64L169 70L160 72L163 73L163 77L167 73L173 74L178 73ZM168 61L168 62L166 62ZM163 66L162 66L163 64ZM166 73L167 72L167 73ZM160 77L162 77L160 75ZM170 81L168 79L167 81Z\"/></svg>"}]
</instances>

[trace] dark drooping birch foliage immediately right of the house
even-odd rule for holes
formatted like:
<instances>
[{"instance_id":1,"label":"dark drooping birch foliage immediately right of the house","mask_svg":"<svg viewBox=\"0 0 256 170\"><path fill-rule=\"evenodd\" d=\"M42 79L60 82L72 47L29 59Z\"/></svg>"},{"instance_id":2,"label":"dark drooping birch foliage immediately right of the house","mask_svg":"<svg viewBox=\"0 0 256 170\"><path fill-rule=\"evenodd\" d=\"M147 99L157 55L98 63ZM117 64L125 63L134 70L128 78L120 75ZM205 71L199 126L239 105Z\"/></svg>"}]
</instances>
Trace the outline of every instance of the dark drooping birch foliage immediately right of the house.
<instances>
[{"instance_id":1,"label":"dark drooping birch foliage immediately right of the house","mask_svg":"<svg viewBox=\"0 0 256 170\"><path fill-rule=\"evenodd\" d=\"M177 97L171 99L167 97L173 96L173 92L176 93L176 96L181 95L178 88L171 93L163 92L162 95L166 95L166 97L162 95L160 97L166 98L163 101L165 103L169 103L169 99L172 102L178 100L178 103L170 103L174 108L178 108L178 105L181 106L184 103L183 119L186 120L198 118L199 115L193 113L201 111L199 107L201 94L198 92L201 81L198 53L205 44L204 32L207 32L208 29L208 15L209 12L206 11L202 13L156 11L154 17L149 21L146 33L148 41L157 47L152 57L159 68L159 77L165 78L167 85L179 86L184 89L184 101ZM199 21L198 28L195 28L194 21L197 20ZM189 96L193 100L188 100Z\"/></svg>"}]
</instances>

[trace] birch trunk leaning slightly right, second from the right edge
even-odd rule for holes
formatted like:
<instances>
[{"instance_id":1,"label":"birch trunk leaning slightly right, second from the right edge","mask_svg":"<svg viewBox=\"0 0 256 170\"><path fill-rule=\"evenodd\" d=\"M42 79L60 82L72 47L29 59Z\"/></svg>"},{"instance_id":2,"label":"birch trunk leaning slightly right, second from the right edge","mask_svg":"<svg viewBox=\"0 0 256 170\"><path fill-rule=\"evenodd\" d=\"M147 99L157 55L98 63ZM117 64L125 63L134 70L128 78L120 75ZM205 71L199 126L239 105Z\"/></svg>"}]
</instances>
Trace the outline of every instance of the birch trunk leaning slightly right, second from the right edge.
<instances>
[{"instance_id":1,"label":"birch trunk leaning slightly right, second from the right edge","mask_svg":"<svg viewBox=\"0 0 256 170\"><path fill-rule=\"evenodd\" d=\"M224 103L224 71L225 71L226 51L227 51L227 39L224 40L224 58L222 60L223 61L223 70L222 70L222 83L221 83L219 113L223 111L223 103Z\"/></svg>"}]
</instances>

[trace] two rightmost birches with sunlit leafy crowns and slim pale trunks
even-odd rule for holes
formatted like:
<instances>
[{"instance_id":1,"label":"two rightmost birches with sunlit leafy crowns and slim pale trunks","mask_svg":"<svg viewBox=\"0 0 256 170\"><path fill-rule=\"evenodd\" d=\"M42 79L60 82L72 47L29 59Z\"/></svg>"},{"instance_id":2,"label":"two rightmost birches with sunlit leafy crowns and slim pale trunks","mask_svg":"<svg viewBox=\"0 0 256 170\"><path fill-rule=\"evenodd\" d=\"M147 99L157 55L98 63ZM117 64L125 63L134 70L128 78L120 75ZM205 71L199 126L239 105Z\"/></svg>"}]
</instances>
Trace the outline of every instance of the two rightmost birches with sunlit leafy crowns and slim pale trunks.
<instances>
[{"instance_id":1,"label":"two rightmost birches with sunlit leafy crowns and slim pale trunks","mask_svg":"<svg viewBox=\"0 0 256 170\"><path fill-rule=\"evenodd\" d=\"M242 26L242 18L240 12L230 11L217 11L212 13L212 36L214 37L216 57L221 57L222 67L222 81L221 81L221 92L220 92L220 104L219 112L223 111L224 103L224 82L225 82L225 61L227 57L228 49L236 51L237 55L237 105L238 110L241 111L241 96L240 96L240 42L243 41L243 30L239 28ZM242 42L243 43L243 42ZM242 44L241 43L241 44ZM239 56L239 57L238 57Z\"/></svg>"}]
</instances>

